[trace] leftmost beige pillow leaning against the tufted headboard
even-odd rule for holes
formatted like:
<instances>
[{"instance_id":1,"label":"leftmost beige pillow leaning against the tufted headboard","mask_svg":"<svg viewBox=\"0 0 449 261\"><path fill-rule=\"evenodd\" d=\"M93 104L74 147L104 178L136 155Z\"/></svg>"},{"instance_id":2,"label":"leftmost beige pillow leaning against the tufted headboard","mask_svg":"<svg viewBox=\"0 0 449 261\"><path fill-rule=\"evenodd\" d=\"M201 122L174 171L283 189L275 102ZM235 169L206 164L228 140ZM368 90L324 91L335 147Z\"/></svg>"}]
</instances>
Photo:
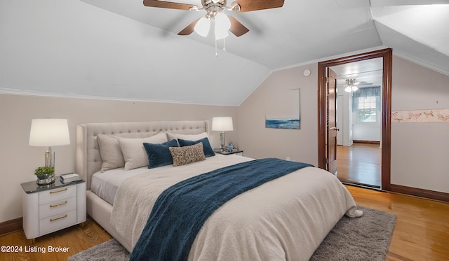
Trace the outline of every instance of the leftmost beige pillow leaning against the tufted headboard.
<instances>
[{"instance_id":1,"label":"leftmost beige pillow leaning against the tufted headboard","mask_svg":"<svg viewBox=\"0 0 449 261\"><path fill-rule=\"evenodd\" d=\"M101 172L125 166L125 160L123 160L120 144L116 137L98 134L97 141L102 159Z\"/></svg>"}]
</instances>

